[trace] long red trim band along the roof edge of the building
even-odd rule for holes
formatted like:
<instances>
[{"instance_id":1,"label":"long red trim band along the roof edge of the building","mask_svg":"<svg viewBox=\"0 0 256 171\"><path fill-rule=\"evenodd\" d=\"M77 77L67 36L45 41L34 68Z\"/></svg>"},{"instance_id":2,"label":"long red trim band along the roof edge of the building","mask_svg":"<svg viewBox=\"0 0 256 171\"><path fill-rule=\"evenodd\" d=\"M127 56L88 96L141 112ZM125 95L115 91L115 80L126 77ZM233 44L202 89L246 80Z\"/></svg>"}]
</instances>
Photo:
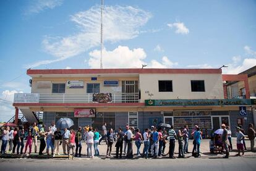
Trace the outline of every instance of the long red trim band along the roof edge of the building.
<instances>
[{"instance_id":1,"label":"long red trim band along the roof edge of the building","mask_svg":"<svg viewBox=\"0 0 256 171\"><path fill-rule=\"evenodd\" d=\"M35 74L99 74L99 73L222 73L221 69L50 69L27 70Z\"/></svg>"}]
</instances>

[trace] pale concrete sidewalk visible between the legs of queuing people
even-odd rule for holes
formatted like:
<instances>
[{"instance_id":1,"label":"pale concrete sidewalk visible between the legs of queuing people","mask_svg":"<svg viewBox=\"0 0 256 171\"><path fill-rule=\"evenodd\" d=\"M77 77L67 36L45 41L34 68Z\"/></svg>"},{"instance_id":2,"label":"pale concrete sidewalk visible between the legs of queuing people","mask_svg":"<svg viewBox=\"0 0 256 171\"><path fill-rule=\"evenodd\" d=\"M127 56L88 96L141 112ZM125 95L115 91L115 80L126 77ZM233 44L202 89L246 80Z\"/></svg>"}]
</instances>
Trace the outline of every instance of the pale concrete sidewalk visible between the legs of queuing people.
<instances>
[{"instance_id":1,"label":"pale concrete sidewalk visible between the legs of queuing people","mask_svg":"<svg viewBox=\"0 0 256 171\"><path fill-rule=\"evenodd\" d=\"M210 149L209 149L209 141L210 140L202 140L202 143L200 145L200 152L201 152L201 157L207 157L207 158L219 158L219 157L222 157L223 154L220 154L220 153L217 153L217 154L211 154L210 153ZM2 141L1 141L2 143ZM0 145L1 145L0 143ZM26 144L26 141L24 141L24 145ZM114 157L116 156L116 147L115 147L115 144L113 144L113 147L112 147L112 156L111 157ZM232 140L232 144L233 144L233 151L230 152L230 156L235 156L237 154L237 147L236 147L236 138L233 138ZM245 140L245 144L247 146L247 151L245 151L245 156L256 156L256 151L255 152L251 152L250 151L250 141L249 140ZM178 156L178 146L179 144L177 143L176 141L176 144L175 144L175 154L174 156ZM38 151L39 151L39 147L40 147L40 141L38 141ZM107 145L105 143L105 141L102 141L101 142L101 145L98 146L99 147L99 151L100 151L100 156L99 157L106 157L106 150L107 150ZM134 153L134 157L137 156L137 147L135 146L135 143L133 141L133 153ZM142 146L140 147L140 153L142 153L143 151L143 147L144 145L142 144ZM124 146L123 146L124 148ZM9 149L9 144L7 145L7 149ZM52 158L52 156L48 156L47 154L44 154L44 155L38 155L38 154L35 154L33 153L34 152L34 144L32 146L32 154L30 156L26 156L25 154L24 155L16 155L16 154L11 154L11 152L7 152L6 155L2 156L4 158L20 158L20 157L32 157L32 158ZM192 144L192 140L189 140L189 152L192 152L192 149L193 149L193 144ZM63 154L63 150L62 150L62 145L60 146L60 149L59 149L59 153L61 154L60 156L56 155L54 158L67 158L67 155L64 155ZM25 146L23 148L23 151L25 151ZM51 151L51 150L50 150ZM165 148L165 151L164 153L167 153L169 151L169 143L166 144L166 148ZM46 148L45 148L45 151L46 152ZM189 153L189 154L186 154L186 157L191 157L192 154ZM85 142L82 142L82 157L87 157L87 144ZM123 157L124 156L124 150L123 150ZM168 156L164 156L163 157L168 157ZM98 157L95 157L95 158L98 158Z\"/></svg>"}]
</instances>

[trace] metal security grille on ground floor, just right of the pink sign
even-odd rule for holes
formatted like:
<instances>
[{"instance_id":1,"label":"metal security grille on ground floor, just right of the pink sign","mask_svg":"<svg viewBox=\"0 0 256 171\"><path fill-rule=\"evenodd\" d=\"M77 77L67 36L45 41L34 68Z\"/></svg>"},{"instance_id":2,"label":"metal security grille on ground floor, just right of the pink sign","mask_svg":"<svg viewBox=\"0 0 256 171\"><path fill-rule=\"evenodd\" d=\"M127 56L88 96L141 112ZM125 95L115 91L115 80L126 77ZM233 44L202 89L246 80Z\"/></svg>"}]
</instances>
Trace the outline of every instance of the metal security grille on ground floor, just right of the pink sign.
<instances>
[{"instance_id":1,"label":"metal security grille on ground floor, just right of the pink sign","mask_svg":"<svg viewBox=\"0 0 256 171\"><path fill-rule=\"evenodd\" d=\"M98 112L96 117L92 118L92 127L102 131L102 125L106 122L106 128L109 130L116 128L116 114L114 112Z\"/></svg>"}]
</instances>

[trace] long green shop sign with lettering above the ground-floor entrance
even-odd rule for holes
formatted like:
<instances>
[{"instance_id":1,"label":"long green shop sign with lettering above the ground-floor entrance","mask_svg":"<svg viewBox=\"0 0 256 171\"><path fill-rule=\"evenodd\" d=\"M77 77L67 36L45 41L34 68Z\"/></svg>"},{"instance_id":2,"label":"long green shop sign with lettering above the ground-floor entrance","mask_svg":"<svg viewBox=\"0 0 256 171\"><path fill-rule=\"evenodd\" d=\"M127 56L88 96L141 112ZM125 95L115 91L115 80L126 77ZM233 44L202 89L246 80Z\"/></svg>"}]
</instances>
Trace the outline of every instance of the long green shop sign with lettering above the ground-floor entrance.
<instances>
[{"instance_id":1,"label":"long green shop sign with lettering above the ground-floor entrance","mask_svg":"<svg viewBox=\"0 0 256 171\"><path fill-rule=\"evenodd\" d=\"M251 99L169 99L145 100L145 106L239 106L256 104Z\"/></svg>"}]
</instances>

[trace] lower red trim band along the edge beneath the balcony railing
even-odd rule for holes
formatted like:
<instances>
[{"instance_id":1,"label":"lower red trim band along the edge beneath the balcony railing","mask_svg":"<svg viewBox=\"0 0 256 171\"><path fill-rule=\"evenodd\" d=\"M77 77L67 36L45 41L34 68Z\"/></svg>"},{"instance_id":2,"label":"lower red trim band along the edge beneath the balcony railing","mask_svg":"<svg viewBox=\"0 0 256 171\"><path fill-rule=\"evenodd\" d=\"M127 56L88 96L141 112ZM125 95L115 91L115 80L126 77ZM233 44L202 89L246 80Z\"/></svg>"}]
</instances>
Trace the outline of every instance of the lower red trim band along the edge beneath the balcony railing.
<instances>
[{"instance_id":1,"label":"lower red trim band along the edge beneath the balcony railing","mask_svg":"<svg viewBox=\"0 0 256 171\"><path fill-rule=\"evenodd\" d=\"M144 102L128 103L14 103L12 106L54 106L54 107L127 107L127 106L145 106Z\"/></svg>"}]
</instances>

